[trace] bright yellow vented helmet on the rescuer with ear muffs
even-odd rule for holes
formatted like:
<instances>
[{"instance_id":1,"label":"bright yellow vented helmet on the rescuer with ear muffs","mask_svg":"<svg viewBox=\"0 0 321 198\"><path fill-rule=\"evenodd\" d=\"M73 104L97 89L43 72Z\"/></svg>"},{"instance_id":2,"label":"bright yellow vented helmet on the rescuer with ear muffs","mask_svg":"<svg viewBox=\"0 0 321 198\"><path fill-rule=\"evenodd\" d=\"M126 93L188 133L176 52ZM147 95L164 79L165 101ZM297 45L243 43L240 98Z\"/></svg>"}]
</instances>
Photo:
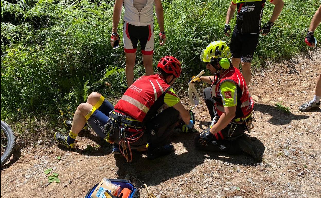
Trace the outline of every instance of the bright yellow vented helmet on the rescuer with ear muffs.
<instances>
[{"instance_id":1,"label":"bright yellow vented helmet on the rescuer with ear muffs","mask_svg":"<svg viewBox=\"0 0 321 198\"><path fill-rule=\"evenodd\" d=\"M217 52L218 51L218 52ZM231 50L230 47L226 45L225 41L217 40L214 41L203 49L201 53L201 61L209 63L211 62L211 58L230 58Z\"/></svg>"}]
</instances>

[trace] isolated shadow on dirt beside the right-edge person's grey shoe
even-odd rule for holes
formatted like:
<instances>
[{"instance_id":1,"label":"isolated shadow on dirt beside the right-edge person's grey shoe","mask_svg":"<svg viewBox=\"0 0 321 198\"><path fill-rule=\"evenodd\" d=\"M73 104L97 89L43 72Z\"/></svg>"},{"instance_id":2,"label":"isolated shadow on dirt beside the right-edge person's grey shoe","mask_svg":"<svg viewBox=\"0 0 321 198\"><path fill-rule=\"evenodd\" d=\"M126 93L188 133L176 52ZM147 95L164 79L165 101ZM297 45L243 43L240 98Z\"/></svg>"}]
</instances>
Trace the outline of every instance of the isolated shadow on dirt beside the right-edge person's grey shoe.
<instances>
[{"instance_id":1,"label":"isolated shadow on dirt beside the right-edge person's grey shoe","mask_svg":"<svg viewBox=\"0 0 321 198\"><path fill-rule=\"evenodd\" d=\"M267 113L272 118L270 118L267 122L272 125L287 125L292 122L292 120L301 120L307 119L309 116L304 115L294 115L292 113L285 113L277 110L275 107L264 104L256 104L254 105L255 111L260 111L261 113ZM256 117L257 119L257 117Z\"/></svg>"}]
</instances>

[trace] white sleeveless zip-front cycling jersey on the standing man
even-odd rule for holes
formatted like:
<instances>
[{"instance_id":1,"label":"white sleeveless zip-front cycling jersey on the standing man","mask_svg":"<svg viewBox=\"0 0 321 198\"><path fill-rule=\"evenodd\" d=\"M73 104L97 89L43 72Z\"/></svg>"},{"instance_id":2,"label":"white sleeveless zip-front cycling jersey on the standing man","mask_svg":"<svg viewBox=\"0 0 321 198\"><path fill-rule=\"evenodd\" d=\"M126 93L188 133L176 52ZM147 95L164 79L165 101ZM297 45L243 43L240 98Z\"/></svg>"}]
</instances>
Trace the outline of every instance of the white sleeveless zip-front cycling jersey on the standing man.
<instances>
[{"instance_id":1,"label":"white sleeveless zip-front cycling jersey on the standing man","mask_svg":"<svg viewBox=\"0 0 321 198\"><path fill-rule=\"evenodd\" d=\"M124 0L124 21L135 26L147 26L154 23L154 0Z\"/></svg>"}]
</instances>

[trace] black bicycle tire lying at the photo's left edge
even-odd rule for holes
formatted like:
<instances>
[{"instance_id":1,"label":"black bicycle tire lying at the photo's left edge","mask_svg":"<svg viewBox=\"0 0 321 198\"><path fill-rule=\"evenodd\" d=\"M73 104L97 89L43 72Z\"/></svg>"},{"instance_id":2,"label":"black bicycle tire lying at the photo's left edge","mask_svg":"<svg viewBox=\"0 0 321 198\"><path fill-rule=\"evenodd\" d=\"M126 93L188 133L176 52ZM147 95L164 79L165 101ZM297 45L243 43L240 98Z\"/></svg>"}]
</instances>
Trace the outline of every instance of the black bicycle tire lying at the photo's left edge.
<instances>
[{"instance_id":1,"label":"black bicycle tire lying at the photo's left edge","mask_svg":"<svg viewBox=\"0 0 321 198\"><path fill-rule=\"evenodd\" d=\"M4 132L8 138L7 147L6 147L3 155L1 155L1 166L3 166L5 164L5 162L8 161L8 159L10 158L10 156L13 153L16 138L14 136L14 133L13 133L13 130L11 129L11 127L2 120L1 120L1 129L4 130Z\"/></svg>"}]
</instances>

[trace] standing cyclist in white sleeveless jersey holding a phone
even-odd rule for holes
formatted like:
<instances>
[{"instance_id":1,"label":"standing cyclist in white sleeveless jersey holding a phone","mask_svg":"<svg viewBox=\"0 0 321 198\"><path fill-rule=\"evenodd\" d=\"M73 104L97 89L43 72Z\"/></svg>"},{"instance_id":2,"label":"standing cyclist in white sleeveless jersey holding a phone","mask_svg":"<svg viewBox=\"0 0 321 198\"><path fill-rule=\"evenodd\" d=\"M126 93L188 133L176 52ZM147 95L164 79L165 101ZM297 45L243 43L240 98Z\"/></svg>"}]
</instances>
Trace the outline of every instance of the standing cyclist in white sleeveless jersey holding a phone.
<instances>
[{"instance_id":1,"label":"standing cyclist in white sleeveless jersey holding a phone","mask_svg":"<svg viewBox=\"0 0 321 198\"><path fill-rule=\"evenodd\" d=\"M161 0L116 0L113 13L113 29L111 34L111 45L114 46L115 41L119 43L120 38L117 34L117 27L120 20L120 14L125 5L124 15L124 49L126 57L126 80L130 87L134 82L134 66L136 58L136 50L138 40L140 42L143 54L143 65L146 75L152 75L153 50L154 50L154 16L153 4L160 27L160 45L166 41L164 32L164 12Z\"/></svg>"}]
</instances>

